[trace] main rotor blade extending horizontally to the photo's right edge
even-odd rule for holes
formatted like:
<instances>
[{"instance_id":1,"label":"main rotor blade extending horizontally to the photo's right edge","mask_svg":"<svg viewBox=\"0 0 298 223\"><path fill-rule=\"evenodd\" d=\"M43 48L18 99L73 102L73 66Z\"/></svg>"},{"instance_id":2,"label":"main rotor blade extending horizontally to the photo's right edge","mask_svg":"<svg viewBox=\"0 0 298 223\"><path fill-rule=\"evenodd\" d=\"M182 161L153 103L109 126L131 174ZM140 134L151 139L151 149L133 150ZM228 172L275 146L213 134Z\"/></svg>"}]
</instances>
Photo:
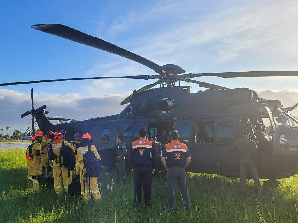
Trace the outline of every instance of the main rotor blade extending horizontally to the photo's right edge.
<instances>
[{"instance_id":1,"label":"main rotor blade extending horizontally to the photo's right edge","mask_svg":"<svg viewBox=\"0 0 298 223\"><path fill-rule=\"evenodd\" d=\"M278 77L278 76L298 76L298 71L244 71L244 72L223 72L223 73L188 73L179 74L177 78L194 77Z\"/></svg>"}]
</instances>

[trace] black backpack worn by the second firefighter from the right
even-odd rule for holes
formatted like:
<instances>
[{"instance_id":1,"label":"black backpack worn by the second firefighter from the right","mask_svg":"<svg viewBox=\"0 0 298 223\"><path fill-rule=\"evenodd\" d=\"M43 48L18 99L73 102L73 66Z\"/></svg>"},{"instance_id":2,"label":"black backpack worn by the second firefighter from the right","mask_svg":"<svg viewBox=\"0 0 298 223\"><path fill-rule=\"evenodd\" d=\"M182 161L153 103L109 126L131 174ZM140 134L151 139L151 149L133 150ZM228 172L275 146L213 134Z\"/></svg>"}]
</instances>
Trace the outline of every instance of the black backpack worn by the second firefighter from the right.
<instances>
[{"instance_id":1,"label":"black backpack worn by the second firefighter from the right","mask_svg":"<svg viewBox=\"0 0 298 223\"><path fill-rule=\"evenodd\" d=\"M62 159L63 158L63 163ZM59 157L59 163L60 166L63 165L67 168L68 171L68 178L70 178L69 172L73 169L75 169L75 153L74 151L68 146L64 144L64 141L62 141L62 148L60 149L60 157Z\"/></svg>"}]
</instances>

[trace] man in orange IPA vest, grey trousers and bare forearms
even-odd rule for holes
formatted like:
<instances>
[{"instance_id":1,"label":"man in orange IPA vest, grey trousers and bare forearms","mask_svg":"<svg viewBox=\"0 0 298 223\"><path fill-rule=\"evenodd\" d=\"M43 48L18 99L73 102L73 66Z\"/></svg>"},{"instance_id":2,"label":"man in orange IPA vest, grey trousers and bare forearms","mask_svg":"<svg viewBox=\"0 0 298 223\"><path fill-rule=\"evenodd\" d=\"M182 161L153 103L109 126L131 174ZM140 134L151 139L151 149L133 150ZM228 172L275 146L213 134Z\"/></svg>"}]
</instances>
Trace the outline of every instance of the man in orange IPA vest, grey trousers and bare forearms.
<instances>
[{"instance_id":1,"label":"man in orange IPA vest, grey trousers and bare forearms","mask_svg":"<svg viewBox=\"0 0 298 223\"><path fill-rule=\"evenodd\" d=\"M167 170L168 208L170 211L176 208L176 184L178 182L184 208L190 211L190 198L187 188L187 176L185 168L190 164L191 156L187 146L178 141L179 132L170 131L172 141L162 150L162 165ZM167 158L167 161L166 161Z\"/></svg>"}]
</instances>

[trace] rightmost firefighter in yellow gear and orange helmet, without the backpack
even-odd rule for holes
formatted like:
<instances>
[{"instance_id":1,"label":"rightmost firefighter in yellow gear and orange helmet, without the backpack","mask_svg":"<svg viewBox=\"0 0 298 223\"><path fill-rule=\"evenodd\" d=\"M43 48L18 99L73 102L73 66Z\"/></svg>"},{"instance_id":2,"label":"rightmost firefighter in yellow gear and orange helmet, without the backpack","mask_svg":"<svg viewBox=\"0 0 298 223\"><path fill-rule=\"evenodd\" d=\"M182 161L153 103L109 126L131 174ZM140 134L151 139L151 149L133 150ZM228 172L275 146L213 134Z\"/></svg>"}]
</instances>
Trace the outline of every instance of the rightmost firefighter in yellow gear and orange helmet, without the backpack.
<instances>
[{"instance_id":1,"label":"rightmost firefighter in yellow gear and orange helmet, without the backpack","mask_svg":"<svg viewBox=\"0 0 298 223\"><path fill-rule=\"evenodd\" d=\"M77 170L77 174L80 174L81 194L82 194L83 200L86 202L88 202L91 199L91 197L93 197L95 201L98 201L101 199L101 194L97 183L97 177L84 178L86 169L83 168L84 167L83 155L88 151L89 144L91 144L91 136L90 134L86 133L82 137L80 147L77 149L77 157L76 157L76 170ZM94 153L97 159L100 159L100 156L94 145L91 145L90 150ZM86 179L87 179L87 182L86 182ZM85 191L84 191L84 184L85 184Z\"/></svg>"}]
</instances>

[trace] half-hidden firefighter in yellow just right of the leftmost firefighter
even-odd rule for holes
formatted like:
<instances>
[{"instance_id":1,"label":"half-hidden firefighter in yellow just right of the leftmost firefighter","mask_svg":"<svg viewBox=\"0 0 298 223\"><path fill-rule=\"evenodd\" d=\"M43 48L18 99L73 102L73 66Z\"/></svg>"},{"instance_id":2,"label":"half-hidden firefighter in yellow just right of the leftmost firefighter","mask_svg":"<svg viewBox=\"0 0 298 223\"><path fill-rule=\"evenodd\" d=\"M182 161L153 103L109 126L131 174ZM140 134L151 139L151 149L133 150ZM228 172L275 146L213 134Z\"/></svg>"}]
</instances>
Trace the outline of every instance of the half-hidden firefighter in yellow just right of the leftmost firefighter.
<instances>
[{"instance_id":1,"label":"half-hidden firefighter in yellow just right of the leftmost firefighter","mask_svg":"<svg viewBox=\"0 0 298 223\"><path fill-rule=\"evenodd\" d=\"M42 172L45 172L45 177L50 177L52 170L52 161L48 159L48 147L52 142L54 136L53 131L47 131L41 142L41 153L42 153Z\"/></svg>"}]
</instances>

